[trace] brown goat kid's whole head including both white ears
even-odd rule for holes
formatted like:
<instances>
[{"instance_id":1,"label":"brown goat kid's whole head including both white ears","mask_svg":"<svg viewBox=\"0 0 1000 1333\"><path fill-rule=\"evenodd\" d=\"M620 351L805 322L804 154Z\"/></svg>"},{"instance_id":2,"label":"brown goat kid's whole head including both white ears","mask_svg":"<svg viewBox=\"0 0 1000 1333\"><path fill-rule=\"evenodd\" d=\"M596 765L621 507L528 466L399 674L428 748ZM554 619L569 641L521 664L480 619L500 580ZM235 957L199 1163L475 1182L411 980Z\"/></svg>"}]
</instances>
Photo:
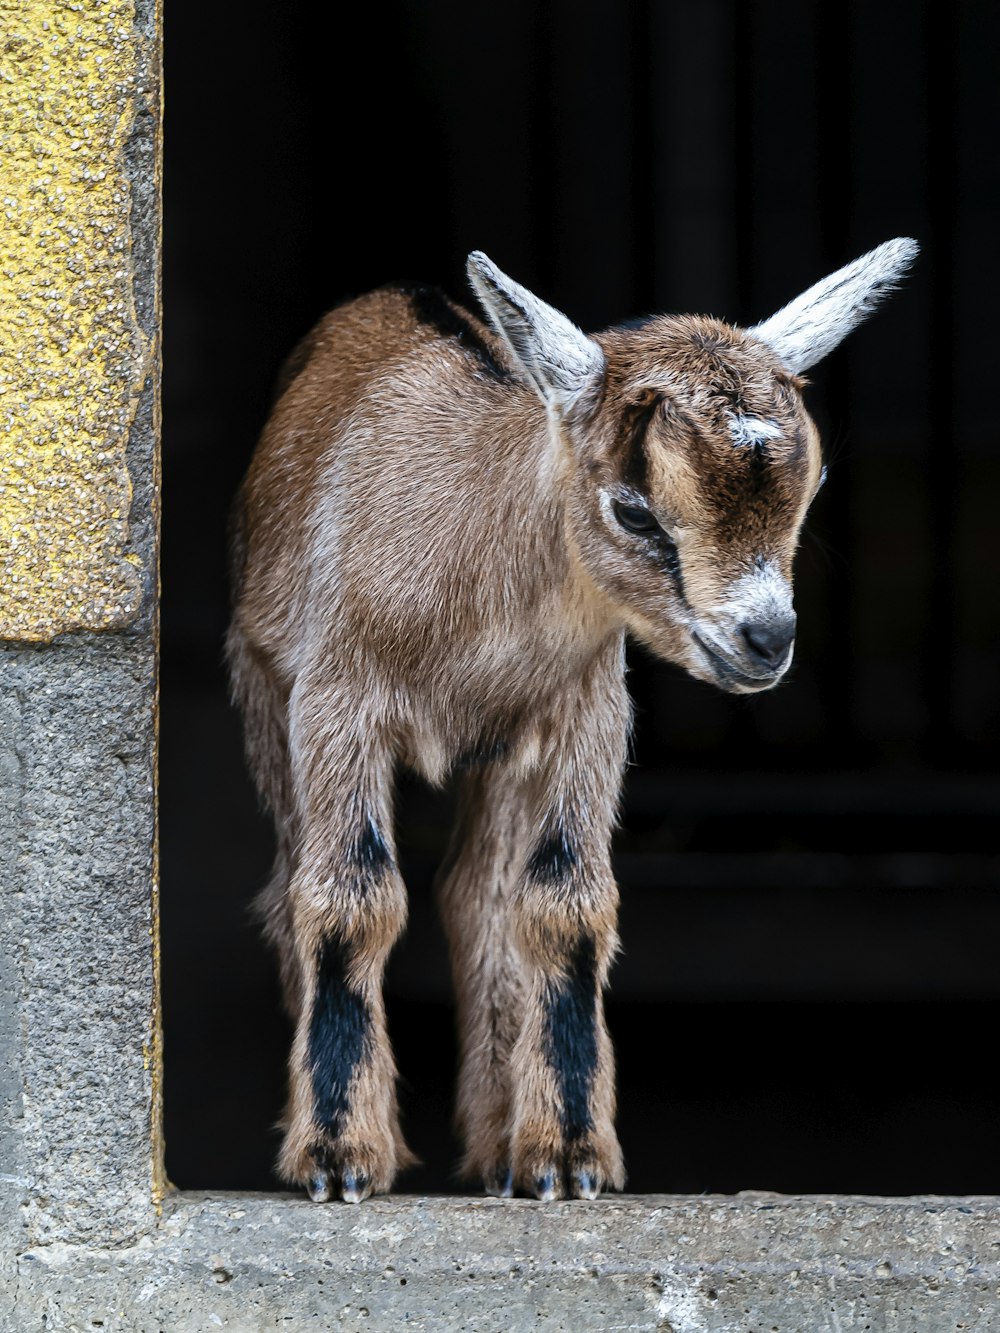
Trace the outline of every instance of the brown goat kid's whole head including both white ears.
<instances>
[{"instance_id":1,"label":"brown goat kid's whole head including both white ears","mask_svg":"<svg viewBox=\"0 0 1000 1333\"><path fill-rule=\"evenodd\" d=\"M660 316L587 337L469 256L469 279L557 427L567 539L639 639L735 693L792 660L792 557L820 487L800 372L892 289L916 243L887 241L752 329Z\"/></svg>"}]
</instances>

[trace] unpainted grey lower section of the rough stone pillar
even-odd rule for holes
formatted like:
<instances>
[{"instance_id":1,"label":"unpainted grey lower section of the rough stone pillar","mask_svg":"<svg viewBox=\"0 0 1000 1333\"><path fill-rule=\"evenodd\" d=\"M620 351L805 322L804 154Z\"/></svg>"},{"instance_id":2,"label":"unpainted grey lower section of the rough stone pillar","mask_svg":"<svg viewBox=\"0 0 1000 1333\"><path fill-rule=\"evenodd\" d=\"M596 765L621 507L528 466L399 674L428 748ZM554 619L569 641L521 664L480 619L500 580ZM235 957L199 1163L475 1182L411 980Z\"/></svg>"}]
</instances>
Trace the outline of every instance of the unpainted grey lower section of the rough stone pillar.
<instances>
[{"instance_id":1,"label":"unpainted grey lower section of the rough stone pillar","mask_svg":"<svg viewBox=\"0 0 1000 1333\"><path fill-rule=\"evenodd\" d=\"M152 1221L153 668L132 636L0 649L0 1218L19 1248Z\"/></svg>"}]
</instances>

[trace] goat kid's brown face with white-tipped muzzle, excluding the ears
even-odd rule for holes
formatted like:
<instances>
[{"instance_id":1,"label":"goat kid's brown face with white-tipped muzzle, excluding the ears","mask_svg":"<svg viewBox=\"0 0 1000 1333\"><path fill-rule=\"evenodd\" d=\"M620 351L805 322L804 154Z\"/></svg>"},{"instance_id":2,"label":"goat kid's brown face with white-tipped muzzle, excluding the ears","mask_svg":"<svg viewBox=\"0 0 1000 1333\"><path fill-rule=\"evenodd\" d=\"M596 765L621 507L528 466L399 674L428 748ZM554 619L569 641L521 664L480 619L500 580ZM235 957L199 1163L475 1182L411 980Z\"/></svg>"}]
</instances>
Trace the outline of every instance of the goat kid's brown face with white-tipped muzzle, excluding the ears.
<instances>
[{"instance_id":1,"label":"goat kid's brown face with white-tipped muzzle, excluding the ears","mask_svg":"<svg viewBox=\"0 0 1000 1333\"><path fill-rule=\"evenodd\" d=\"M801 381L713 320L597 341L600 399L565 431L579 557L655 652L723 689L768 689L792 660L792 557L821 476Z\"/></svg>"}]
</instances>

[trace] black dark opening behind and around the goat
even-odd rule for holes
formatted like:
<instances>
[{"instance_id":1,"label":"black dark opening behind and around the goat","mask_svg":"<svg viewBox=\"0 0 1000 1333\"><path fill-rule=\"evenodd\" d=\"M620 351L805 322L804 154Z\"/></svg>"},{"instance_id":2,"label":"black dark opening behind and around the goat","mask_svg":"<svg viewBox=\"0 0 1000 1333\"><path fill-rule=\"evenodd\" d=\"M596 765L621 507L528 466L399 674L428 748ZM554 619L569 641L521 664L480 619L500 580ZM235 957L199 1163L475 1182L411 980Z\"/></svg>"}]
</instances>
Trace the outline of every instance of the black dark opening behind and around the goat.
<instances>
[{"instance_id":1,"label":"black dark opening behind and around the goat","mask_svg":"<svg viewBox=\"0 0 1000 1333\"><path fill-rule=\"evenodd\" d=\"M167 5L163 976L168 1170L273 1188L288 1030L248 906L271 833L225 700L224 533L275 372L485 249L584 328L755 323L897 235L901 291L812 372L829 480L796 665L733 698L640 653L609 1021L633 1190L996 1193L1000 11L985 3ZM401 784L388 982L448 1190L429 897Z\"/></svg>"}]
</instances>

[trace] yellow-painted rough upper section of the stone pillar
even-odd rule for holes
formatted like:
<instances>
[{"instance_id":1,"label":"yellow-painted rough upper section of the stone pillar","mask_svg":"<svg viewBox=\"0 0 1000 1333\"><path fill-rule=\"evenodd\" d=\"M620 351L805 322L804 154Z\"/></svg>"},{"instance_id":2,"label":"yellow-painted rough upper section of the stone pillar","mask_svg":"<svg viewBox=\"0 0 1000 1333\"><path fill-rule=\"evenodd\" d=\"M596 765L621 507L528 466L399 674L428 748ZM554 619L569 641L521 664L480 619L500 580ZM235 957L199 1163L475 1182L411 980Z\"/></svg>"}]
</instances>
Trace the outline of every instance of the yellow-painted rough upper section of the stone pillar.
<instances>
[{"instance_id":1,"label":"yellow-painted rough upper section of the stone pillar","mask_svg":"<svg viewBox=\"0 0 1000 1333\"><path fill-rule=\"evenodd\" d=\"M127 625L155 577L131 521L151 495L127 465L159 355L156 273L133 253L151 223L132 188L151 184L132 157L156 121L148 21L131 0L0 12L0 639Z\"/></svg>"}]
</instances>

